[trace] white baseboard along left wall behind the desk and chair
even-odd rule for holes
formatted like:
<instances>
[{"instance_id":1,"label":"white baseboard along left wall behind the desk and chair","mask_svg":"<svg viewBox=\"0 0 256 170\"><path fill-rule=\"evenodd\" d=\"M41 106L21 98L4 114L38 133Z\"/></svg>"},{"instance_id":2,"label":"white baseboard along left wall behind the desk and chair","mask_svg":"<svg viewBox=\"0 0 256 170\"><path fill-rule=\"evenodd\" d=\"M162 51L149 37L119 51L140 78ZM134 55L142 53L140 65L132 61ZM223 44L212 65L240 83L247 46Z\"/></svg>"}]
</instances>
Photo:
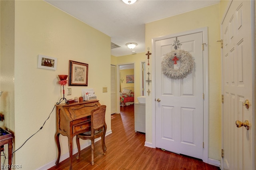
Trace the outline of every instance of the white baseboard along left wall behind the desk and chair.
<instances>
[{"instance_id":1,"label":"white baseboard along left wall behind the desk and chair","mask_svg":"<svg viewBox=\"0 0 256 170\"><path fill-rule=\"evenodd\" d=\"M106 132L106 135L105 136L108 136L109 134L112 133L112 130L109 130L108 132ZM94 142L97 142L98 140L100 140L100 138L97 138ZM80 147L81 147L81 150L90 146L91 145L91 142L90 140L88 140L88 142L85 142L84 144L82 144ZM78 152L78 149L77 148L74 148L73 149L73 155L76 154ZM69 158L69 152L63 154L60 156L60 162L62 162L63 160L65 160L66 158ZM51 162L41 166L40 168L36 169L36 170L47 170L53 166L55 166L55 162L56 162L57 159L55 160L52 160Z\"/></svg>"}]
</instances>

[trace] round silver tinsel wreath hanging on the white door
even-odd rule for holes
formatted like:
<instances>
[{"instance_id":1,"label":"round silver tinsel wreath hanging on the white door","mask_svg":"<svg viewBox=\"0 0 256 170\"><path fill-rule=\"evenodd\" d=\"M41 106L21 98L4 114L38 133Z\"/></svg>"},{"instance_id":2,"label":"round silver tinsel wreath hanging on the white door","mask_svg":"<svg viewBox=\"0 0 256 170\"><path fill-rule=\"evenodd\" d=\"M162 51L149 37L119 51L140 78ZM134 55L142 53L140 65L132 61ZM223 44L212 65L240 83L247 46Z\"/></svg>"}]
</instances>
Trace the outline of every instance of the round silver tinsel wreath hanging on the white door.
<instances>
[{"instance_id":1,"label":"round silver tinsel wreath hanging on the white door","mask_svg":"<svg viewBox=\"0 0 256 170\"><path fill-rule=\"evenodd\" d=\"M180 67L178 69L174 69L174 56L178 58L180 61ZM184 79L192 73L194 67L194 59L192 55L183 50L183 49L175 49L170 53L166 53L164 59L162 60L162 72L166 77L170 79Z\"/></svg>"}]
</instances>

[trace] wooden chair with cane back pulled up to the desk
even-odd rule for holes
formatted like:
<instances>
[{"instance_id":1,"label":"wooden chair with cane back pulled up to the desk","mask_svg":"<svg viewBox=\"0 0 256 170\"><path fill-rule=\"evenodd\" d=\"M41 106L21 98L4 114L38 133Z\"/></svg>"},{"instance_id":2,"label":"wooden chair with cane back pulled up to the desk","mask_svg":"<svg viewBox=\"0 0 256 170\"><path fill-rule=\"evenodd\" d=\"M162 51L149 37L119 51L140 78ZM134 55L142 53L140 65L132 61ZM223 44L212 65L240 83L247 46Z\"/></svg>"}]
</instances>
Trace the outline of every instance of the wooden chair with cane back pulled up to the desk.
<instances>
[{"instance_id":1,"label":"wooden chair with cane back pulled up to the desk","mask_svg":"<svg viewBox=\"0 0 256 170\"><path fill-rule=\"evenodd\" d=\"M91 127L90 131L76 135L76 144L78 147L78 154L76 159L80 156L80 142L79 138L83 140L91 140L92 151L92 165L94 164L94 139L101 137L101 145L104 155L106 155L105 134L107 125L105 122L106 105L101 105L91 111Z\"/></svg>"}]
</instances>

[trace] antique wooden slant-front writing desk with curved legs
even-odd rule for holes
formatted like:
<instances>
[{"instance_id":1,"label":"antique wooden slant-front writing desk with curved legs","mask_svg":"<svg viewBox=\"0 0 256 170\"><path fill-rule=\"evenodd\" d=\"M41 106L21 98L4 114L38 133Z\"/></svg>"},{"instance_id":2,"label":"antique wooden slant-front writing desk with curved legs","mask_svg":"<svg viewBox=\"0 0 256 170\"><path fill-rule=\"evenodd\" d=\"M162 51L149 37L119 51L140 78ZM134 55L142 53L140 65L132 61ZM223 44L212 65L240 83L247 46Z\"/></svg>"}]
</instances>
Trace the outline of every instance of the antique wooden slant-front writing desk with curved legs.
<instances>
[{"instance_id":1,"label":"antique wooden slant-front writing desk with curved legs","mask_svg":"<svg viewBox=\"0 0 256 170\"><path fill-rule=\"evenodd\" d=\"M59 136L68 136L70 170L72 170L73 155L73 137L76 134L84 133L90 129L91 110L100 106L98 100L82 101L67 104L59 104L56 106L56 133L55 142L58 148L58 158L56 165L60 161L60 139Z\"/></svg>"}]
</instances>

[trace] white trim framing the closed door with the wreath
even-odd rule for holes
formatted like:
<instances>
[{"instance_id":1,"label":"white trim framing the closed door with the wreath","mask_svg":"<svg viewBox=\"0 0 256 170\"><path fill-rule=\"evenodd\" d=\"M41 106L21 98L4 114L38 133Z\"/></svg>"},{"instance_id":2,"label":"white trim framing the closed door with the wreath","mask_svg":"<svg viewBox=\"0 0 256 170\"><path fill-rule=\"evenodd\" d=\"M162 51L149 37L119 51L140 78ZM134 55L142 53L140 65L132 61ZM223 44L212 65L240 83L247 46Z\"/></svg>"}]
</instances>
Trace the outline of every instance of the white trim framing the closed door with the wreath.
<instances>
[{"instance_id":1,"label":"white trim framing the closed door with the wreath","mask_svg":"<svg viewBox=\"0 0 256 170\"><path fill-rule=\"evenodd\" d=\"M155 42L159 40L164 40L168 38L178 37L178 36L184 36L188 34L194 34L202 32L203 34L203 42L206 43L203 51L203 72L204 72L204 149L203 149L203 162L208 163L208 113L209 113L209 96L208 96L208 28L198 28L195 30L190 30L187 32L181 32L177 34L171 34L167 36L161 36L158 38L152 38L152 61L156 58L155 56ZM155 107L155 98L156 98L156 63L152 62L152 147L156 148L156 107Z\"/></svg>"}]
</instances>

